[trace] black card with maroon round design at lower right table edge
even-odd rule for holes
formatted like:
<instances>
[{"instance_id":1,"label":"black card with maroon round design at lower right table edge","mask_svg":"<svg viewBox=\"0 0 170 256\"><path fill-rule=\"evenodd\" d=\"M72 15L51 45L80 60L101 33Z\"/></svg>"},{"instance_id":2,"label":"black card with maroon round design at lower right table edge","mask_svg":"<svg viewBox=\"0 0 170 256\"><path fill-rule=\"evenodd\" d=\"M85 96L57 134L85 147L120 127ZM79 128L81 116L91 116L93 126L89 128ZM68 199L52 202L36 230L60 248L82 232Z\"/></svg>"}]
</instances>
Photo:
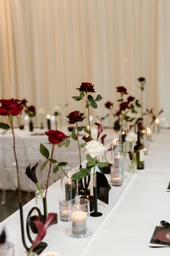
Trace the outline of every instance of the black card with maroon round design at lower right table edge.
<instances>
[{"instance_id":1,"label":"black card with maroon round design at lower right table edge","mask_svg":"<svg viewBox=\"0 0 170 256\"><path fill-rule=\"evenodd\" d=\"M170 246L170 229L166 229L162 226L156 226L150 243Z\"/></svg>"}]
</instances>

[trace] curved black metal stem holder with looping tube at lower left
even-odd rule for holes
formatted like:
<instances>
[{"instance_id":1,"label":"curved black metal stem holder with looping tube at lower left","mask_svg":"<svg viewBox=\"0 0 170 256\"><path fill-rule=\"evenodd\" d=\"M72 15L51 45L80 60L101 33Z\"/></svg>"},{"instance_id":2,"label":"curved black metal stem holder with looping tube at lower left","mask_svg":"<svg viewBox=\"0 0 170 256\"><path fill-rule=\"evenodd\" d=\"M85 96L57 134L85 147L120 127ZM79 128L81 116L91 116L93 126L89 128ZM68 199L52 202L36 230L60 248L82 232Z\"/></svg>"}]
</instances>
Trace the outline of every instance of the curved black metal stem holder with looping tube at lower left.
<instances>
[{"instance_id":1,"label":"curved black metal stem holder with looping tube at lower left","mask_svg":"<svg viewBox=\"0 0 170 256\"><path fill-rule=\"evenodd\" d=\"M47 219L47 207L46 207L46 198L43 198L43 210L44 210L44 218L42 217L42 213L40 211L39 208L37 207L33 207L30 212L27 215L27 237L30 240L30 242L32 243L32 237L30 235L30 217L31 214L34 210L37 210L37 215L39 216L40 221L46 221ZM24 248L28 251L30 249L30 247L27 247L27 244L25 242L25 237L24 237L24 217L23 217L23 208L22 208L22 202L19 202L19 213L20 213L20 223L21 223L21 231L22 231L22 244L24 245ZM45 242L40 242L40 244L37 245L37 247L35 247L33 249L34 252L37 253L37 255L40 255L40 253L43 251L43 249L45 249L45 247L47 247L48 244L46 244Z\"/></svg>"}]
</instances>

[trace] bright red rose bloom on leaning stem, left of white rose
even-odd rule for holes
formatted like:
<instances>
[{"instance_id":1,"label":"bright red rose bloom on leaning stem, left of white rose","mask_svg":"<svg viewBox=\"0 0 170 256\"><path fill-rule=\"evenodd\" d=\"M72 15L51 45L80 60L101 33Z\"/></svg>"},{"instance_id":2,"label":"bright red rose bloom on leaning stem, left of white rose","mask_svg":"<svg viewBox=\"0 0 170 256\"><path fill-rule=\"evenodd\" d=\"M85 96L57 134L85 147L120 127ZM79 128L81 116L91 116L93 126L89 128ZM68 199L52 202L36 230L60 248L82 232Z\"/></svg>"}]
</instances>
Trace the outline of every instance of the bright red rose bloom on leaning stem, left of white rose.
<instances>
[{"instance_id":1,"label":"bright red rose bloom on leaning stem, left of white rose","mask_svg":"<svg viewBox=\"0 0 170 256\"><path fill-rule=\"evenodd\" d=\"M63 132L53 129L50 129L48 132L45 132L45 135L48 136L49 142L55 145L60 144L67 137Z\"/></svg>"}]
</instances>

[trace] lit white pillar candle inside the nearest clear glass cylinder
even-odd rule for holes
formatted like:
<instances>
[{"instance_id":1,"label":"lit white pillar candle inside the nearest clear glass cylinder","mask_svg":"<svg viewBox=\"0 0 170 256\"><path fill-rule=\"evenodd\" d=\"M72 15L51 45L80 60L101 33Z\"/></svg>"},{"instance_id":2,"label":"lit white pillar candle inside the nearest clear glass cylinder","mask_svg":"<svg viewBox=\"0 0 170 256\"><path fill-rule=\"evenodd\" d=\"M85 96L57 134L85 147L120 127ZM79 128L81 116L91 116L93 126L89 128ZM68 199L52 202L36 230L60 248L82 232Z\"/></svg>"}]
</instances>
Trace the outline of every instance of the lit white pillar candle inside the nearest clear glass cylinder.
<instances>
[{"instance_id":1,"label":"lit white pillar candle inside the nearest clear glass cylinder","mask_svg":"<svg viewBox=\"0 0 170 256\"><path fill-rule=\"evenodd\" d=\"M73 236L80 236L86 234L86 217L86 212L82 210L76 210L71 213Z\"/></svg>"}]
</instances>

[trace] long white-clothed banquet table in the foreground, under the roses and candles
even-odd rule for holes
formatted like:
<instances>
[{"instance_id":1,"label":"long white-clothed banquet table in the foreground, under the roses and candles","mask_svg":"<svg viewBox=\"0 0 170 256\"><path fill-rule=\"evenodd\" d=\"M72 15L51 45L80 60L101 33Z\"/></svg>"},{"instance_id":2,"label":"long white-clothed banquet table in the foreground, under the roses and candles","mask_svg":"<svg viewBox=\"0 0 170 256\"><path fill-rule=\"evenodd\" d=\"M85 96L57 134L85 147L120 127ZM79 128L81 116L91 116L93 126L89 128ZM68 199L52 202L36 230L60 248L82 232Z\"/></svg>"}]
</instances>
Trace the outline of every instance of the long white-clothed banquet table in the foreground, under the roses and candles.
<instances>
[{"instance_id":1,"label":"long white-clothed banquet table in the foreground, under the roses and candles","mask_svg":"<svg viewBox=\"0 0 170 256\"><path fill-rule=\"evenodd\" d=\"M45 251L57 251L61 256L150 256L169 255L169 247L150 248L149 242L161 220L170 221L170 131L163 130L151 144L146 156L146 168L136 174L126 174L121 187L112 187L109 206L99 205L103 216L90 217L93 234L84 239L66 236L68 223L60 220L50 226L44 241ZM48 210L58 212L61 200L60 182L55 182L48 193ZM24 206L24 217L35 205L32 200ZM19 212L0 224L8 239L14 242L15 256L24 252L19 228Z\"/></svg>"}]
</instances>

